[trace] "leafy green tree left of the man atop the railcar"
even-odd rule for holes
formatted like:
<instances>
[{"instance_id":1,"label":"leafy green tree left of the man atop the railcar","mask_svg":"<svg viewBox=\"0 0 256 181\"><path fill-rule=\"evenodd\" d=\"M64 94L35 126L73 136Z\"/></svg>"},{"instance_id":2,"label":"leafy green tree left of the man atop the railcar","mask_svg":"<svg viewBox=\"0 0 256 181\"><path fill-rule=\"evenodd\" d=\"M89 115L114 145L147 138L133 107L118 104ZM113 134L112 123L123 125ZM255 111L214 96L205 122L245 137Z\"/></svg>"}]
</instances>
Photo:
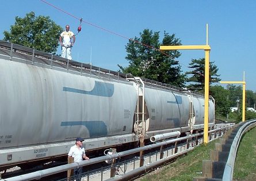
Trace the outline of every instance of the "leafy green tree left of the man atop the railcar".
<instances>
[{"instance_id":1,"label":"leafy green tree left of the man atop the railcar","mask_svg":"<svg viewBox=\"0 0 256 181\"><path fill-rule=\"evenodd\" d=\"M56 53L62 28L50 20L50 17L36 17L31 11L24 18L16 17L15 20L10 32L3 32L5 35L3 40L48 53Z\"/></svg>"}]
</instances>

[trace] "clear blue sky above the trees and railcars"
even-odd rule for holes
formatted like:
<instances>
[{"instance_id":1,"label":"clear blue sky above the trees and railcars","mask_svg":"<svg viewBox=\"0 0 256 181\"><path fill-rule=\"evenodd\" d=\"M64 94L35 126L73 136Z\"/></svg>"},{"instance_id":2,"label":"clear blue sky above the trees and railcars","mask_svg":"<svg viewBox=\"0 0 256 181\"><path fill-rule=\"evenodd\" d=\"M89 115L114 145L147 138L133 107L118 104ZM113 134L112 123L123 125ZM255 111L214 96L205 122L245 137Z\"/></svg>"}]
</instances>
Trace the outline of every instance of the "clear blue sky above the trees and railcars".
<instances>
[{"instance_id":1,"label":"clear blue sky above the trees and railcars","mask_svg":"<svg viewBox=\"0 0 256 181\"><path fill-rule=\"evenodd\" d=\"M256 1L178 1L178 0L129 0L129 1L57 1L47 0L75 17L100 26L121 36L139 37L148 28L153 32L164 30L174 33L183 45L205 45L206 24L210 60L215 61L222 80L243 80L246 89L256 91ZM79 20L55 9L40 0L4 1L1 7L0 39L3 31L10 30L15 17L25 17L35 11L36 16L49 16L56 24L77 33ZM3 16L4 15L4 16ZM93 63L94 66L117 71L128 66L125 45L128 39L109 33L95 26L82 23L82 31L72 49L73 60ZM162 40L162 39L161 39ZM60 48L58 49L60 54ZM189 71L191 59L204 57L202 50L181 51L179 63L182 71ZM226 87L226 85L224 85Z\"/></svg>"}]
</instances>

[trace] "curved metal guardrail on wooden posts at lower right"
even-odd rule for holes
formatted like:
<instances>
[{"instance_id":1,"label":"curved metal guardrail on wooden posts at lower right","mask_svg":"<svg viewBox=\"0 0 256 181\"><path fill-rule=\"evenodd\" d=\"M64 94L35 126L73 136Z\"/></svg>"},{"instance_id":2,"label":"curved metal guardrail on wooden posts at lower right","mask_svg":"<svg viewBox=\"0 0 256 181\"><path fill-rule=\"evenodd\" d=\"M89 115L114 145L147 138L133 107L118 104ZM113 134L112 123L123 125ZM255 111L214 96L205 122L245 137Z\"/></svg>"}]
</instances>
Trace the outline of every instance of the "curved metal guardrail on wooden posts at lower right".
<instances>
[{"instance_id":1,"label":"curved metal guardrail on wooden posts at lower right","mask_svg":"<svg viewBox=\"0 0 256 181\"><path fill-rule=\"evenodd\" d=\"M202 178L194 178L193 180L232 181L240 140L243 134L255 126L256 120L240 122L224 136L225 138L220 138L220 143L216 143L215 150L211 152L211 160L202 160Z\"/></svg>"}]
</instances>

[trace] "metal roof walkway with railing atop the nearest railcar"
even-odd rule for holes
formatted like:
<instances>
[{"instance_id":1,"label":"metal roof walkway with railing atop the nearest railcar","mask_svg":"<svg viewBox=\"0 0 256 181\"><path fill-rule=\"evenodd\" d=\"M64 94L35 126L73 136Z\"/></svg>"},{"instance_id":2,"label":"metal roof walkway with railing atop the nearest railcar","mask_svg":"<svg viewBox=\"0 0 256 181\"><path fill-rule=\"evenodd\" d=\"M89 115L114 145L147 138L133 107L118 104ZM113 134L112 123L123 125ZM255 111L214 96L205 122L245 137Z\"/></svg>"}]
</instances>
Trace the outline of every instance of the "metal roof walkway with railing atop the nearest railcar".
<instances>
[{"instance_id":1,"label":"metal roof walkway with railing atop the nearest railcar","mask_svg":"<svg viewBox=\"0 0 256 181\"><path fill-rule=\"evenodd\" d=\"M34 66L52 68L54 70L66 70L73 74L128 82L126 78L129 75L127 74L92 66L91 64L64 59L60 56L12 44L3 40L0 40L0 57L2 59L18 61L20 63L32 64Z\"/></svg>"}]
</instances>

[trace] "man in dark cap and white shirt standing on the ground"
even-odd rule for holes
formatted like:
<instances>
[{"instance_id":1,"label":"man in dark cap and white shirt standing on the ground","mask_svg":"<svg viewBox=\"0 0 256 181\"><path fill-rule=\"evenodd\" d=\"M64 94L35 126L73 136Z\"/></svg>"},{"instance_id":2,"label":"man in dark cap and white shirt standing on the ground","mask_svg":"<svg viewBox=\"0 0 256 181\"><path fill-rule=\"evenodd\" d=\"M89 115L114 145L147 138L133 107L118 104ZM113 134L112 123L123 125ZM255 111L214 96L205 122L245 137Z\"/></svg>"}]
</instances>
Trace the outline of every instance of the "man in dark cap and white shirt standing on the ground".
<instances>
[{"instance_id":1,"label":"man in dark cap and white shirt standing on the ground","mask_svg":"<svg viewBox=\"0 0 256 181\"><path fill-rule=\"evenodd\" d=\"M78 163L79 161L83 161L83 159L89 160L89 157L87 157L85 154L85 148L82 148L82 144L83 144L83 139L81 137L78 137L75 140L75 145L72 146L70 148L70 151L68 152L68 158L73 157L75 163ZM77 181L81 180L82 168L83 167L74 169L74 176Z\"/></svg>"}]
</instances>

